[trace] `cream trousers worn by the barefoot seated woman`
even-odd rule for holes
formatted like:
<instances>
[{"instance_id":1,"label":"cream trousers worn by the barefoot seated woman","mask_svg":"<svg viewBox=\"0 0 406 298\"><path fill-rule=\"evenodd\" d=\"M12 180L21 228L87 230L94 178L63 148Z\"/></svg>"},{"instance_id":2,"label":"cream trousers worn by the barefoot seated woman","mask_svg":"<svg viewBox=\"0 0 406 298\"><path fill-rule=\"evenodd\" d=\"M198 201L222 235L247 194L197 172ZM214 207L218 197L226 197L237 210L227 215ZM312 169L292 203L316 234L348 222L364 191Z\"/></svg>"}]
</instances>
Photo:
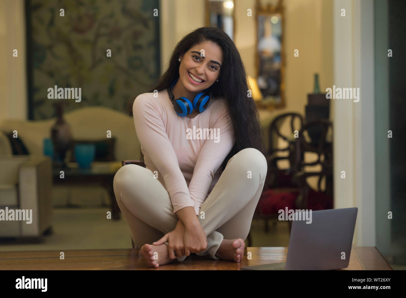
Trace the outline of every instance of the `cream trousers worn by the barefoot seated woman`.
<instances>
[{"instance_id":1,"label":"cream trousers worn by the barefoot seated woman","mask_svg":"<svg viewBox=\"0 0 406 298\"><path fill-rule=\"evenodd\" d=\"M207 249L196 255L219 259L216 252L223 238L246 239L266 174L266 158L255 148L243 149L229 159L200 207L197 218L207 236ZM169 194L151 170L125 165L115 174L113 185L117 203L138 248L158 241L175 229L178 217L173 214ZM182 262L185 258L186 255L177 260Z\"/></svg>"}]
</instances>

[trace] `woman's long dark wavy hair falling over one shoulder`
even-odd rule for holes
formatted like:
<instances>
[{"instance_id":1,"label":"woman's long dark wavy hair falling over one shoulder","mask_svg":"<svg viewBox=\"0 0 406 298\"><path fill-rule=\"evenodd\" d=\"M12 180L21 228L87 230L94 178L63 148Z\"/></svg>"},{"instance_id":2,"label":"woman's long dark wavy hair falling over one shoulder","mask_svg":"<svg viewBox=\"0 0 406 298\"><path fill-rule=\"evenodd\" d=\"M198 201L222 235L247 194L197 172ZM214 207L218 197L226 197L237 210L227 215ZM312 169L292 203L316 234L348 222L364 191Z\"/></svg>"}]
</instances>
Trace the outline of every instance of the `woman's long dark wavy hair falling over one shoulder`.
<instances>
[{"instance_id":1,"label":"woman's long dark wavy hair falling over one shoulder","mask_svg":"<svg viewBox=\"0 0 406 298\"><path fill-rule=\"evenodd\" d=\"M183 56L191 47L205 41L212 41L222 49L223 63L219 81L214 82L208 88L211 98L224 97L227 102L231 120L233 122L235 144L221 166L221 172L224 171L227 162L233 155L245 148L255 148L266 156L265 144L261 136L259 125L260 118L255 102L252 97L248 97L249 84L242 63L240 53L230 37L222 30L212 27L202 27L187 34L172 52L169 67L159 78L158 84L148 92L154 90L166 90L175 79L179 78L178 58ZM127 105L127 111L132 115L132 105L134 99L131 99ZM141 160L144 160L143 153L140 153ZM268 180L267 175L267 180ZM265 184L265 186L267 183ZM264 186L264 189L265 189Z\"/></svg>"}]
</instances>

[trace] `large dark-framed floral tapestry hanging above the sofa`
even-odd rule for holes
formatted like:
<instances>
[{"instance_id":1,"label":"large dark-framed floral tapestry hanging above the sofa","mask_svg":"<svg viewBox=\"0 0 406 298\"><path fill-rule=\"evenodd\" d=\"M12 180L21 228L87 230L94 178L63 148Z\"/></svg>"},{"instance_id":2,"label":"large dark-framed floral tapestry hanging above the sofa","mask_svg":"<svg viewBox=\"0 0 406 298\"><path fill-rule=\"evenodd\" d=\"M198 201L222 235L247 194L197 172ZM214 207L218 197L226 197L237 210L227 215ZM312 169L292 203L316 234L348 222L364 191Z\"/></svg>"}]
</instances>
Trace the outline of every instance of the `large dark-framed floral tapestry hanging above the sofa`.
<instances>
[{"instance_id":1,"label":"large dark-framed floral tapestry hanging above the sofa","mask_svg":"<svg viewBox=\"0 0 406 298\"><path fill-rule=\"evenodd\" d=\"M54 101L65 101L65 112L100 105L125 113L128 101L160 75L158 5L26 0L29 119L54 117ZM80 102L50 99L54 86L81 88Z\"/></svg>"}]
</instances>

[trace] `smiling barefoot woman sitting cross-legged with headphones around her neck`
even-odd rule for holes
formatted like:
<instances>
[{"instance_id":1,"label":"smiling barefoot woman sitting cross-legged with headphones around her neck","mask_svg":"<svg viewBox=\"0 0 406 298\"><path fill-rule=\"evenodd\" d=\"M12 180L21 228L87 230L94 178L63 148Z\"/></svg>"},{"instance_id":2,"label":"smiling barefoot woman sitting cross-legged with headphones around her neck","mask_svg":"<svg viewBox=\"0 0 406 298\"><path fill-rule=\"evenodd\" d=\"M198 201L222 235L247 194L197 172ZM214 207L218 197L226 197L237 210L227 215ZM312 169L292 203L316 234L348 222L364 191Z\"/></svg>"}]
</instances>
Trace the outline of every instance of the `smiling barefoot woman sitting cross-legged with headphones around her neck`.
<instances>
[{"instance_id":1,"label":"smiling barefoot woman sitting cross-legged with headphones around her neck","mask_svg":"<svg viewBox=\"0 0 406 298\"><path fill-rule=\"evenodd\" d=\"M148 266L190 253L244 257L267 173L249 94L233 41L199 28L177 44L158 85L135 98L132 113L129 106L146 168L121 167L114 193Z\"/></svg>"}]
</instances>

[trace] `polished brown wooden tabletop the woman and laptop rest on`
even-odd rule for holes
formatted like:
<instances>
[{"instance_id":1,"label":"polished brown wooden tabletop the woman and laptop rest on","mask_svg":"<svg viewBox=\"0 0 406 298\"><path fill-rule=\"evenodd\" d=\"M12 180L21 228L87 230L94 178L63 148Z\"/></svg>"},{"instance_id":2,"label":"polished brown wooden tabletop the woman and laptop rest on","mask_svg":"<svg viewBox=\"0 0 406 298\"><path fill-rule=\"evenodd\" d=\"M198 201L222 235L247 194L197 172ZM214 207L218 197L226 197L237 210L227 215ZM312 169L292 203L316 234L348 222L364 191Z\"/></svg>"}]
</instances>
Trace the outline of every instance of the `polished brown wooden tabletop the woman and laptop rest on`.
<instances>
[{"instance_id":1,"label":"polished brown wooden tabletop the woman and laptop rest on","mask_svg":"<svg viewBox=\"0 0 406 298\"><path fill-rule=\"evenodd\" d=\"M247 260L247 251L253 259ZM83 249L60 251L0 252L0 270L240 270L240 267L285 262L287 247L246 247L242 262L213 260L195 254L184 262L149 268L138 249ZM344 270L392 270L376 247L353 247Z\"/></svg>"}]
</instances>

